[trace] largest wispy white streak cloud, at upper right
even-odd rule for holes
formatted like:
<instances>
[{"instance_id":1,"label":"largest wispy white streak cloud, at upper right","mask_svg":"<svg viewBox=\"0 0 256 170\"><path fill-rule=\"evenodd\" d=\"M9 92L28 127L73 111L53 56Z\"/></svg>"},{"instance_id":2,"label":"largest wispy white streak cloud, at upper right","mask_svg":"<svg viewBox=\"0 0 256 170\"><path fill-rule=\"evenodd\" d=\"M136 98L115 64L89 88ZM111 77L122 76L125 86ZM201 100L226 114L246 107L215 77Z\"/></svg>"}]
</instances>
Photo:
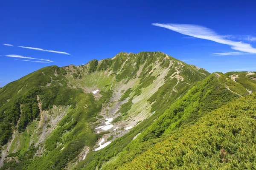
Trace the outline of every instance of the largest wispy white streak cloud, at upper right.
<instances>
[{"instance_id":1,"label":"largest wispy white streak cloud, at upper right","mask_svg":"<svg viewBox=\"0 0 256 170\"><path fill-rule=\"evenodd\" d=\"M190 24L160 24L153 23L153 26L159 26L168 28L172 31L176 31L180 34L188 35L195 38L201 38L204 40L211 40L221 44L230 45L233 50L242 51L246 53L256 54L256 48L253 48L250 44L241 41L227 40L225 36L218 35L215 31L198 25Z\"/></svg>"}]
</instances>

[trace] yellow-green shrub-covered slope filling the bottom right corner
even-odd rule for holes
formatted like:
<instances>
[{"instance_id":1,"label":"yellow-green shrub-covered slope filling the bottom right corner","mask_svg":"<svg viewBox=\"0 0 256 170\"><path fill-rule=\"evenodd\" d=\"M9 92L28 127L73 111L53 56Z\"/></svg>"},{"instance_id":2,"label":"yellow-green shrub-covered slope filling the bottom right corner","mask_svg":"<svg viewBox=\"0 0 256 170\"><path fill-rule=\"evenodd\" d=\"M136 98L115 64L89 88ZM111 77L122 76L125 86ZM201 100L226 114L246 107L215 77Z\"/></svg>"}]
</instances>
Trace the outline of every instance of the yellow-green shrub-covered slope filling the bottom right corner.
<instances>
[{"instance_id":1,"label":"yellow-green shrub-covered slope filling the bottom right corner","mask_svg":"<svg viewBox=\"0 0 256 170\"><path fill-rule=\"evenodd\" d=\"M255 110L254 94L236 99L118 169L255 169Z\"/></svg>"}]
</instances>

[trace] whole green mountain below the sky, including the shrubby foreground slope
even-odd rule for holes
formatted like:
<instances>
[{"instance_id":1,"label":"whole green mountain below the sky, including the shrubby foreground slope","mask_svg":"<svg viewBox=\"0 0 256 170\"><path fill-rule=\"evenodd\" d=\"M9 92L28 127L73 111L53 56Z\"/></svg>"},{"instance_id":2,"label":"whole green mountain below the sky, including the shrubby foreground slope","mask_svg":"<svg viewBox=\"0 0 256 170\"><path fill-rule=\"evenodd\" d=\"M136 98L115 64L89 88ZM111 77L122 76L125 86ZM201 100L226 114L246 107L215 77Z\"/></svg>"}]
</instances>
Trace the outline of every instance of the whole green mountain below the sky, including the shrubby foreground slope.
<instances>
[{"instance_id":1,"label":"whole green mountain below the sky, including the shrubby foreground slope","mask_svg":"<svg viewBox=\"0 0 256 170\"><path fill-rule=\"evenodd\" d=\"M255 76L162 52L42 68L0 89L1 170L252 169Z\"/></svg>"}]
</instances>

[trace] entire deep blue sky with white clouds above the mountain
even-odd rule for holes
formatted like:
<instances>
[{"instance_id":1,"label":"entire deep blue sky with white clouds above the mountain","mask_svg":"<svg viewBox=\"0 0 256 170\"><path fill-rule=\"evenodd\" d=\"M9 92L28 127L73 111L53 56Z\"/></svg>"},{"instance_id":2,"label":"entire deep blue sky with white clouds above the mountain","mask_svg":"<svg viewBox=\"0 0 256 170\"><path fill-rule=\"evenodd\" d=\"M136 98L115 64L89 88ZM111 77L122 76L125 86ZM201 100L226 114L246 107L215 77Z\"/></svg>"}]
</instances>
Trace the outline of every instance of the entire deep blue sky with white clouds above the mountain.
<instances>
[{"instance_id":1,"label":"entire deep blue sky with white clouds above the mountain","mask_svg":"<svg viewBox=\"0 0 256 170\"><path fill-rule=\"evenodd\" d=\"M45 66L81 65L120 51L162 51L209 72L256 71L255 6L254 0L2 1L0 87Z\"/></svg>"}]
</instances>

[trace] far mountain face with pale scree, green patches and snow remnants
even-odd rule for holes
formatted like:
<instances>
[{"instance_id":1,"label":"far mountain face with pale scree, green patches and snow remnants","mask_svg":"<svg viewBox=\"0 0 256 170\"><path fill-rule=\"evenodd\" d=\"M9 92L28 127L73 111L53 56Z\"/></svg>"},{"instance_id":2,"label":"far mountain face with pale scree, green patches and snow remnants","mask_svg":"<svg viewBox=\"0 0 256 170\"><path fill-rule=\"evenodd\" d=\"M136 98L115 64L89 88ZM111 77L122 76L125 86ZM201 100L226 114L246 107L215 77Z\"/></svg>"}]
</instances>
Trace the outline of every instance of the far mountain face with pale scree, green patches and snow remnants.
<instances>
[{"instance_id":1,"label":"far mountain face with pale scree, green patches and snow remnants","mask_svg":"<svg viewBox=\"0 0 256 170\"><path fill-rule=\"evenodd\" d=\"M161 52L42 68L0 90L0 166L101 166L206 76Z\"/></svg>"}]
</instances>

